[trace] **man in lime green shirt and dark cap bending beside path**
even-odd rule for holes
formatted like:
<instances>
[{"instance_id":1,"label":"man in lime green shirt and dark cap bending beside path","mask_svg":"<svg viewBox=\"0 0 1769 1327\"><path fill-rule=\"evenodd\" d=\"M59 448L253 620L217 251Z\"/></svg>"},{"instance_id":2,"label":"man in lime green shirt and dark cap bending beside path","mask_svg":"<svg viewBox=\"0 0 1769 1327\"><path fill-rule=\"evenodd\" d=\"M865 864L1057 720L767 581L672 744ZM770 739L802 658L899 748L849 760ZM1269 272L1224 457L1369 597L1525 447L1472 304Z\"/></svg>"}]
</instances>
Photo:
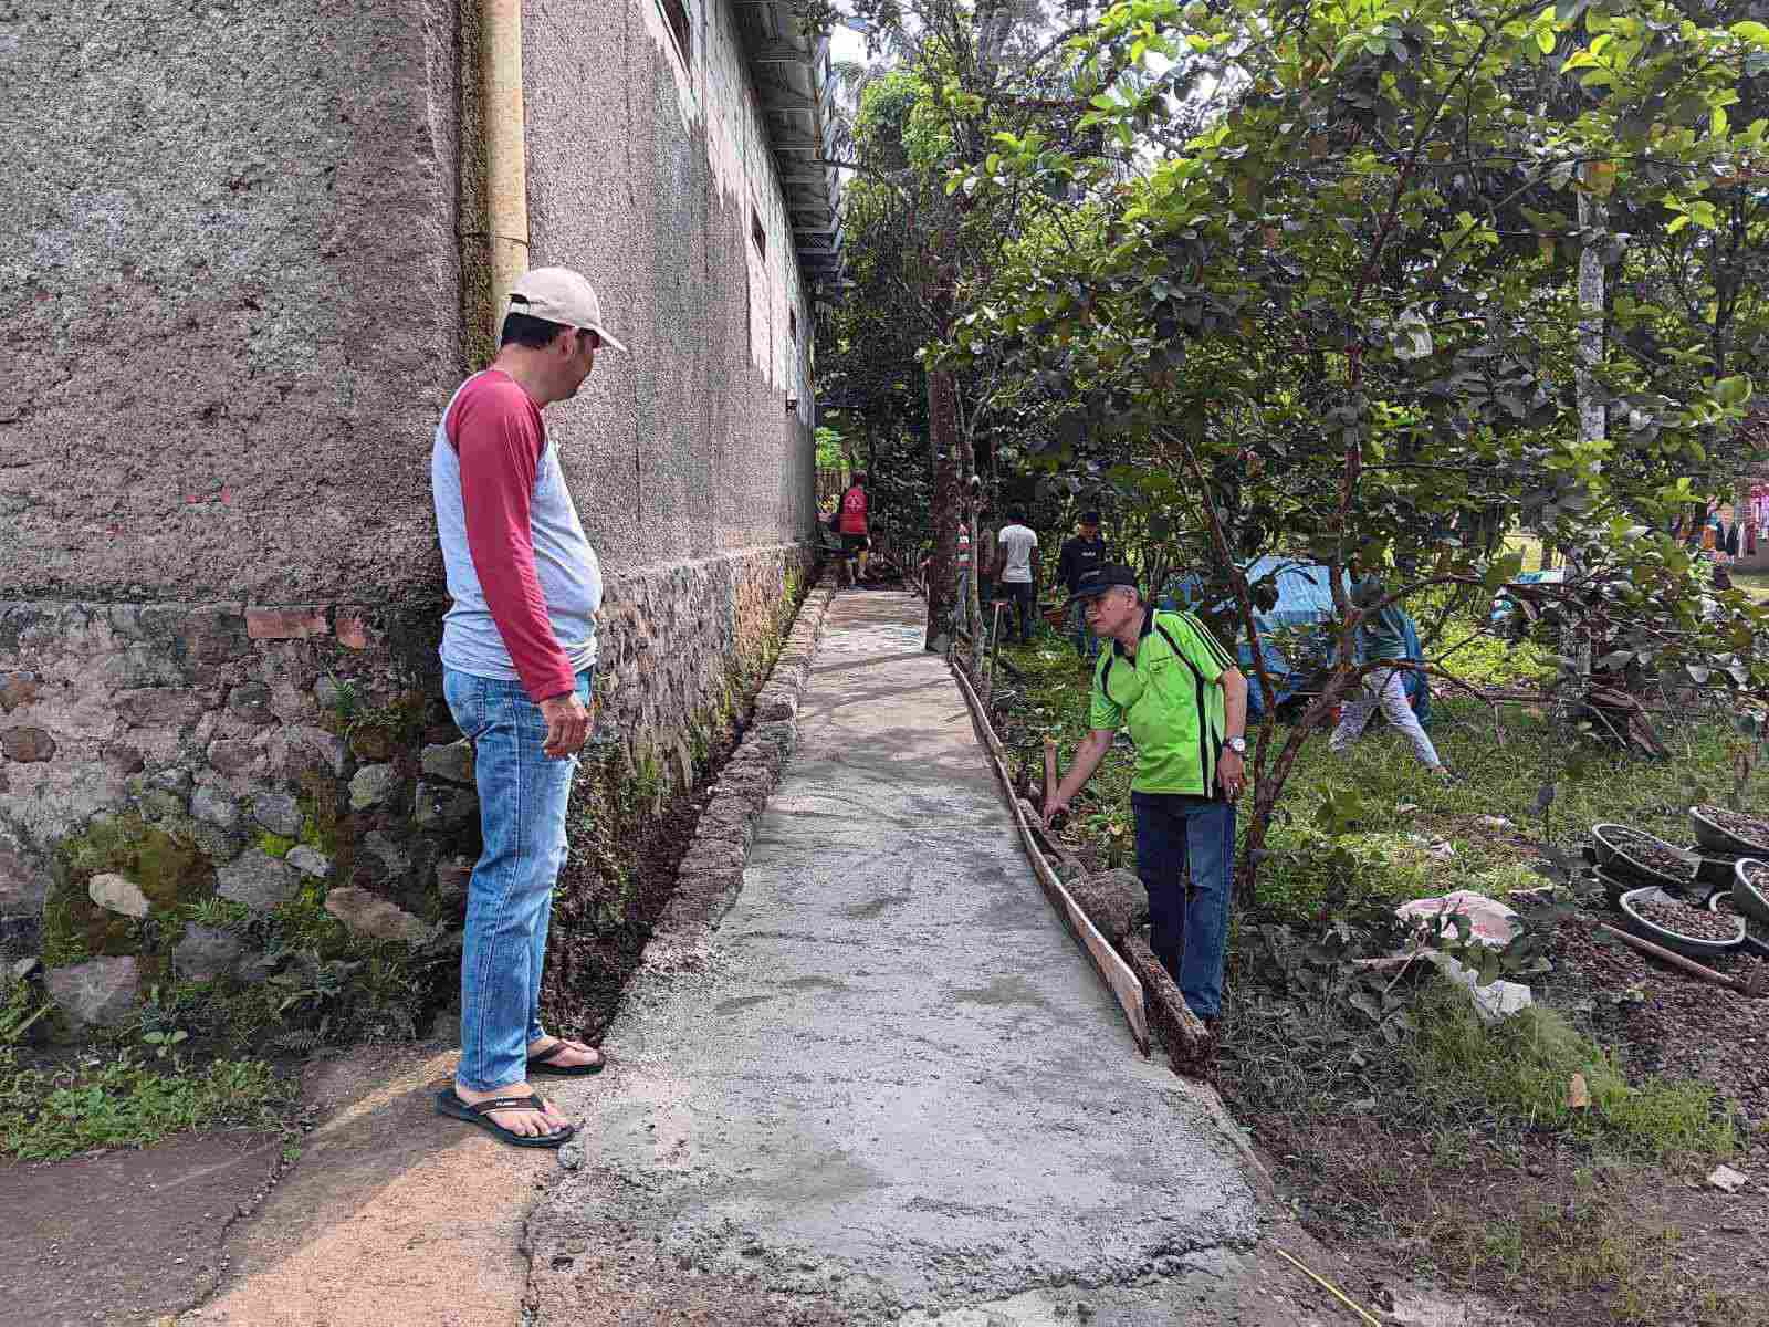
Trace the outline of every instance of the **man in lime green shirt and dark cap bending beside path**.
<instances>
[{"instance_id":1,"label":"man in lime green shirt and dark cap bending beside path","mask_svg":"<svg viewBox=\"0 0 1769 1327\"><path fill-rule=\"evenodd\" d=\"M1093 669L1093 731L1044 809L1045 825L1068 809L1127 727L1136 741L1130 809L1150 948L1191 1010L1214 1026L1222 1012L1235 798L1245 782L1247 679L1189 612L1145 603L1127 566L1088 571L1074 598L1109 644Z\"/></svg>"}]
</instances>

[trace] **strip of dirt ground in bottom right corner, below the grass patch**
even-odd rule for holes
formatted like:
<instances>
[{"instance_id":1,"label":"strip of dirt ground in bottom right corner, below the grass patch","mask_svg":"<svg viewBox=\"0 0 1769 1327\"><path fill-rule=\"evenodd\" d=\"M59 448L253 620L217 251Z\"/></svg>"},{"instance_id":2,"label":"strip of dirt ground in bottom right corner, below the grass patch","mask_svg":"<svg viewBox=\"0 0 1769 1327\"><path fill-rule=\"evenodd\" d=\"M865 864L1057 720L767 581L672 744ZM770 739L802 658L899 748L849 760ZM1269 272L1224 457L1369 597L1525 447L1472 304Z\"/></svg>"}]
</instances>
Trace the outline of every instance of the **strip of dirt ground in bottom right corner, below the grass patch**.
<instances>
[{"instance_id":1,"label":"strip of dirt ground in bottom right corner, below the grass patch","mask_svg":"<svg viewBox=\"0 0 1769 1327\"><path fill-rule=\"evenodd\" d=\"M1518 1157L1479 1131L1406 1138L1373 1118L1254 1120L1300 1224L1352 1260L1348 1290L1385 1308L1396 1281L1475 1292L1537 1323L1769 1323L1769 1198L1704 1168L1543 1141ZM1769 1175L1769 1148L1732 1164Z\"/></svg>"}]
</instances>

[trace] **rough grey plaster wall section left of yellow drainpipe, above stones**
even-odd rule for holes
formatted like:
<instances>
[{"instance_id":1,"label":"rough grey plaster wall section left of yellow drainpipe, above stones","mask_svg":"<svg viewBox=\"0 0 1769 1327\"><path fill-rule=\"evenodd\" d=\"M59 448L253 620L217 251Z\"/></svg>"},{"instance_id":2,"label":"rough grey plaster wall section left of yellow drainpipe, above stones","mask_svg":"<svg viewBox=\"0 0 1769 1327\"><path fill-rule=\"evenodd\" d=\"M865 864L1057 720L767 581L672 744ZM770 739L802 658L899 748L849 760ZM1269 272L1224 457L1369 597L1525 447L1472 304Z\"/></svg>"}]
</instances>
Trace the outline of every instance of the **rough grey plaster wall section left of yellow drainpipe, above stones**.
<instances>
[{"instance_id":1,"label":"rough grey plaster wall section left of yellow drainpipe, above stones","mask_svg":"<svg viewBox=\"0 0 1769 1327\"><path fill-rule=\"evenodd\" d=\"M460 364L430 113L448 30L419 0L12 12L0 596L433 584L423 439Z\"/></svg>"}]
</instances>

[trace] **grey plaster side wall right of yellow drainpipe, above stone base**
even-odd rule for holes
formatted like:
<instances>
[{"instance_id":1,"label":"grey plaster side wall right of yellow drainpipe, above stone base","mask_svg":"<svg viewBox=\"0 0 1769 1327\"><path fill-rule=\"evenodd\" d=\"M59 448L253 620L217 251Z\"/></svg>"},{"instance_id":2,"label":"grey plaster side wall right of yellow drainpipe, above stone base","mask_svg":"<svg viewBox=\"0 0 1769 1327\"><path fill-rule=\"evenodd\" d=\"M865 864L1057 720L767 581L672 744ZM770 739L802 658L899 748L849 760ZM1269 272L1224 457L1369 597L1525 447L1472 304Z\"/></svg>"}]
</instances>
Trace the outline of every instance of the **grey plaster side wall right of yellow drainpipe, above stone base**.
<instances>
[{"instance_id":1,"label":"grey plaster side wall right of yellow drainpipe, above stone base","mask_svg":"<svg viewBox=\"0 0 1769 1327\"><path fill-rule=\"evenodd\" d=\"M524 28L532 260L582 267L632 333L548 416L614 571L796 541L814 510L791 223L734 16L690 12L686 67L656 0Z\"/></svg>"}]
</instances>

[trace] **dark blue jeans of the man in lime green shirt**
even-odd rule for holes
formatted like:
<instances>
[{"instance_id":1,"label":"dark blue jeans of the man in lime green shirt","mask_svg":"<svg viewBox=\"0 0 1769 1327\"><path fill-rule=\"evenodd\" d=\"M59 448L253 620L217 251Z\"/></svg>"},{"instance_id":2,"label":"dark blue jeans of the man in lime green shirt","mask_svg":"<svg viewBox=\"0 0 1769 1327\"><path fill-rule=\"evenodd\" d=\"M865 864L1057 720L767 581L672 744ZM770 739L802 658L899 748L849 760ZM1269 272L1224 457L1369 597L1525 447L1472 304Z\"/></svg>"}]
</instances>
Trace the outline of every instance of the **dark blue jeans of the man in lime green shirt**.
<instances>
[{"instance_id":1,"label":"dark blue jeans of the man in lime green shirt","mask_svg":"<svg viewBox=\"0 0 1769 1327\"><path fill-rule=\"evenodd\" d=\"M1222 1012L1235 803L1132 793L1136 874L1148 888L1150 948L1201 1019ZM1185 890L1191 865L1191 897Z\"/></svg>"}]
</instances>

